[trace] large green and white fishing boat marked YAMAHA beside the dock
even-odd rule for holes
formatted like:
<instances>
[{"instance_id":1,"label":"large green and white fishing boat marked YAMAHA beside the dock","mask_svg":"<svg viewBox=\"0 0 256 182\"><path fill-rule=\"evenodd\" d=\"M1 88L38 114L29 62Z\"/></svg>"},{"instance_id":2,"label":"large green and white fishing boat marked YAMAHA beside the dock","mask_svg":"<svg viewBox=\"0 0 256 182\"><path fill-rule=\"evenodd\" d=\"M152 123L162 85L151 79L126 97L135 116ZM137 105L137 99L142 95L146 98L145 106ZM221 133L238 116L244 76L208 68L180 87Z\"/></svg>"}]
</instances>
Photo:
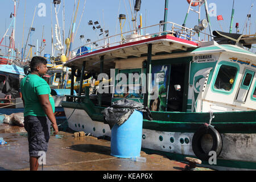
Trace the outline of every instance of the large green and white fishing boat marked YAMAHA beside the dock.
<instances>
[{"instance_id":1,"label":"large green and white fishing boat marked YAMAHA beside the dock","mask_svg":"<svg viewBox=\"0 0 256 182\"><path fill-rule=\"evenodd\" d=\"M206 0L189 1L189 9L193 5L205 6L208 15ZM61 104L68 127L111 137L101 112L126 98L151 110L153 120L143 119L143 151L180 161L198 158L213 169L256 169L256 55L244 48L256 43L255 35L210 31L208 41L196 39L207 26L208 19L195 28L166 19L148 27L141 23L71 57L65 64L72 69L71 96ZM144 29L152 32L143 35ZM104 92L97 102L90 99L89 86L73 94L77 69L99 75ZM103 77L112 80L102 82ZM108 91L110 102L102 104Z\"/></svg>"}]
</instances>

